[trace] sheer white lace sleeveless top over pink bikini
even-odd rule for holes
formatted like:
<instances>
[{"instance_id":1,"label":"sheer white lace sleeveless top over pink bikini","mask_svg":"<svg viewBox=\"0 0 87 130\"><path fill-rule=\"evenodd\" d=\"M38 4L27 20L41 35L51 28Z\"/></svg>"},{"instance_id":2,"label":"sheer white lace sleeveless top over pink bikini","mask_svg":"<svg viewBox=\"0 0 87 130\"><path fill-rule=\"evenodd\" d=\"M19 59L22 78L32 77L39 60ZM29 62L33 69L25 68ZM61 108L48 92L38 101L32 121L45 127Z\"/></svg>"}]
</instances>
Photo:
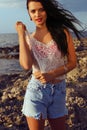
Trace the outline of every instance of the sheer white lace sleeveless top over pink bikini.
<instances>
[{"instance_id":1,"label":"sheer white lace sleeveless top over pink bikini","mask_svg":"<svg viewBox=\"0 0 87 130\"><path fill-rule=\"evenodd\" d=\"M47 73L48 71L64 65L64 57L54 40L44 44L26 33L26 41L34 61L32 65L32 73L37 71ZM63 80L65 79L65 75L57 77L57 79Z\"/></svg>"}]
</instances>

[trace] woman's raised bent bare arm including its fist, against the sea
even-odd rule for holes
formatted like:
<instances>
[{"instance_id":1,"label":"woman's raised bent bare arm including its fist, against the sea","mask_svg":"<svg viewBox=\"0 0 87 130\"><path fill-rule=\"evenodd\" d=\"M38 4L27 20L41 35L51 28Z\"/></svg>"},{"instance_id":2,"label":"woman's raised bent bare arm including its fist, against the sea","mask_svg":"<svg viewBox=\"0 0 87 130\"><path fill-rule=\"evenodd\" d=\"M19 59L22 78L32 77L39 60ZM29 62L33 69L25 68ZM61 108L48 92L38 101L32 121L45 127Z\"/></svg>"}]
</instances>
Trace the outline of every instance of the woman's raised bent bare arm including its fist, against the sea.
<instances>
[{"instance_id":1,"label":"woman's raised bent bare arm including its fist, against the sea","mask_svg":"<svg viewBox=\"0 0 87 130\"><path fill-rule=\"evenodd\" d=\"M19 39L19 61L21 66L26 69L30 70L32 67L32 56L30 53L29 46L26 42L25 38L25 31L26 27L22 22L16 23L16 30L18 33L18 39Z\"/></svg>"}]
</instances>

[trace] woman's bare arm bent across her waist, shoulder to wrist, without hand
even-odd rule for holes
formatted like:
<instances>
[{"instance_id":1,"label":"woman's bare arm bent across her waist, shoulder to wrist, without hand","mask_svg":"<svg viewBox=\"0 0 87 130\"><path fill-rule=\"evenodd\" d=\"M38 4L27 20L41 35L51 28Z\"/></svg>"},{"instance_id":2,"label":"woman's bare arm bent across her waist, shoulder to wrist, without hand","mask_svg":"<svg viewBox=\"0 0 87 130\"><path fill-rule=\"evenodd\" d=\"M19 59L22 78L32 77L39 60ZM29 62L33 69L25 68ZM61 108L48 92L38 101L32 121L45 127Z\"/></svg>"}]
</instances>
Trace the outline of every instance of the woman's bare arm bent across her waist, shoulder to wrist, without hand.
<instances>
[{"instance_id":1,"label":"woman's bare arm bent across her waist, shoulder to wrist, without hand","mask_svg":"<svg viewBox=\"0 0 87 130\"><path fill-rule=\"evenodd\" d=\"M68 41L67 63L65 64L65 66L61 66L58 69L53 70L52 73L53 73L54 77L61 76L76 67L77 60L76 60L75 48L73 45L73 39L72 39L72 36L70 35L70 33L66 32L66 31L65 31L65 33L66 33L67 41Z\"/></svg>"}]
</instances>

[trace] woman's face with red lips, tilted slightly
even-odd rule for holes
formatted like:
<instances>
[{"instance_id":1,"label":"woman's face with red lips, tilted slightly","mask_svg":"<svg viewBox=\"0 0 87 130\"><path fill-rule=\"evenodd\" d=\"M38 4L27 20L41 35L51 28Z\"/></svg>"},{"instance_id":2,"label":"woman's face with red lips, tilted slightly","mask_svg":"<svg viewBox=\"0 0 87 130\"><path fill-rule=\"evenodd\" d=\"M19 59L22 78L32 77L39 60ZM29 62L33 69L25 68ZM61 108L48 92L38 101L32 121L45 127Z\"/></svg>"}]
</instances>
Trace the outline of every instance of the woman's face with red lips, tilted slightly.
<instances>
[{"instance_id":1,"label":"woman's face with red lips, tilted slightly","mask_svg":"<svg viewBox=\"0 0 87 130\"><path fill-rule=\"evenodd\" d=\"M36 26L43 26L46 24L47 14L40 2L29 2L28 12Z\"/></svg>"}]
</instances>

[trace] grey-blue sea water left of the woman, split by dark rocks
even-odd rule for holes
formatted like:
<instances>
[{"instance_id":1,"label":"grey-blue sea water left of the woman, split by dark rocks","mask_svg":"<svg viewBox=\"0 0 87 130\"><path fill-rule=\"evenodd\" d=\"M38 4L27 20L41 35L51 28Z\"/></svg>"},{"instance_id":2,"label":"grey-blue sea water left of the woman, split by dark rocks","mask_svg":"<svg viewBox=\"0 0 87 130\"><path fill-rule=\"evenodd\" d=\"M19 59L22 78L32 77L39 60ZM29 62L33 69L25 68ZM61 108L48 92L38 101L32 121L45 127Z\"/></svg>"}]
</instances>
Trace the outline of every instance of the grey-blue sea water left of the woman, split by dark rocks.
<instances>
[{"instance_id":1,"label":"grey-blue sea water left of the woman, split by dark rocks","mask_svg":"<svg viewBox=\"0 0 87 130\"><path fill-rule=\"evenodd\" d=\"M18 36L16 33L0 34L0 49L18 45ZM2 55L2 54L0 54ZM20 73L23 69L18 59L0 58L0 75Z\"/></svg>"}]
</instances>

